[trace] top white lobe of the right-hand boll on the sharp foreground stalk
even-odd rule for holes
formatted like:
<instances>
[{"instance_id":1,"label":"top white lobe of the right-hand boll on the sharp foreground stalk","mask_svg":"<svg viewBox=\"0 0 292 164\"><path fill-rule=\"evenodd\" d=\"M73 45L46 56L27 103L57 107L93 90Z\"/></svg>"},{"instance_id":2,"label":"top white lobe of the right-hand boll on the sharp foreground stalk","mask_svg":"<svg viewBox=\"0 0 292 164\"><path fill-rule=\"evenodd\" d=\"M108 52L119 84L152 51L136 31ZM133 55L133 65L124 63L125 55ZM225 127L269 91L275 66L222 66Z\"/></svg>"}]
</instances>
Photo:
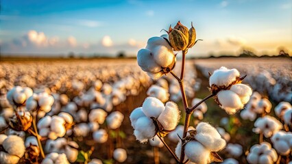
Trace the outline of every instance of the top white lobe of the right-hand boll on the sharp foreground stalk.
<instances>
[{"instance_id":1,"label":"top white lobe of the right-hand boll on the sharp foreground stalk","mask_svg":"<svg viewBox=\"0 0 292 164\"><path fill-rule=\"evenodd\" d=\"M236 69L229 70L226 67L221 67L219 70L215 70L210 76L209 84L219 86L228 86L230 83L236 80L239 77L239 71Z\"/></svg>"}]
</instances>

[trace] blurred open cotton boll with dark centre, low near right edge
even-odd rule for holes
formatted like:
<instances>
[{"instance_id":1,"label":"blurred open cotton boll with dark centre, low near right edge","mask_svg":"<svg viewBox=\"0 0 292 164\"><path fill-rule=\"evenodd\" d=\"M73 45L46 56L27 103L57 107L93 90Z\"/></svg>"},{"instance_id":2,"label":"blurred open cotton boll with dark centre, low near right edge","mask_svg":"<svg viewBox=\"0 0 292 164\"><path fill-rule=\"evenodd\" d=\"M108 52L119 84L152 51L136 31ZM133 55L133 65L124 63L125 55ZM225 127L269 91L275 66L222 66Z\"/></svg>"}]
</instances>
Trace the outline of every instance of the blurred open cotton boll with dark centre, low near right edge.
<instances>
[{"instance_id":1,"label":"blurred open cotton boll with dark centre, low near right edge","mask_svg":"<svg viewBox=\"0 0 292 164\"><path fill-rule=\"evenodd\" d=\"M263 133L265 137L271 137L274 133L280 131L282 129L282 124L276 118L273 118L269 115L265 115L263 118L258 118L256 122L254 122L255 133Z\"/></svg>"}]
</instances>

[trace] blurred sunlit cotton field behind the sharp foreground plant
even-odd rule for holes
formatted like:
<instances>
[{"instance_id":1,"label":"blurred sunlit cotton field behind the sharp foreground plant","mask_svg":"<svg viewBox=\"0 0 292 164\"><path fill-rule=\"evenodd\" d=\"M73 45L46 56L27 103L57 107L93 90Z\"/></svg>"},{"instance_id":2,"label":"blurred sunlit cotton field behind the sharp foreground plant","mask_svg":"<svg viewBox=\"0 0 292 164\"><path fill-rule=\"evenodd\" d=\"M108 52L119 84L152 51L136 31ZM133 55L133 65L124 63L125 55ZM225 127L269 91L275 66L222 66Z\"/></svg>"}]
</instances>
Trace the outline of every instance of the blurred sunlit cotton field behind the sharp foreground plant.
<instances>
[{"instance_id":1,"label":"blurred sunlit cotton field behind the sharp foreground plant","mask_svg":"<svg viewBox=\"0 0 292 164\"><path fill-rule=\"evenodd\" d=\"M180 74L181 66L177 61L173 73ZM211 94L208 72L213 74L221 66L247 75L242 83L252 87L250 101L229 115L210 98L192 113L190 126L208 122L217 129L226 141L217 152L224 163L248 163L252 153L289 163L291 58L187 59L184 90L189 106ZM0 88L1 163L63 159L69 163L175 163L158 137L140 143L130 120L147 96L175 102L182 117L163 139L177 153L185 112L180 85L171 74L153 80L136 59L7 59L0 61ZM19 139L10 137L14 135ZM266 148L259 147L263 152L256 154L252 146L260 143Z\"/></svg>"}]
</instances>

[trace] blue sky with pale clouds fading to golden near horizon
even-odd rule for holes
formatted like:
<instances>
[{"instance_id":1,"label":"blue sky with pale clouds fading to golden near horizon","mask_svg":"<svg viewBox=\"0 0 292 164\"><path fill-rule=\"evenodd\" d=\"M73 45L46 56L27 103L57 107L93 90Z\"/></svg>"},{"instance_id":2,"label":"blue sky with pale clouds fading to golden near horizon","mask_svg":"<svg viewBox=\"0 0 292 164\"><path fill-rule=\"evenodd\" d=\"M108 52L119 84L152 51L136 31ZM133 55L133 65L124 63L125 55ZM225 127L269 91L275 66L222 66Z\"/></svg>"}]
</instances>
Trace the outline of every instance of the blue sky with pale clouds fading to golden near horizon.
<instances>
[{"instance_id":1,"label":"blue sky with pale clouds fading to golden near horizon","mask_svg":"<svg viewBox=\"0 0 292 164\"><path fill-rule=\"evenodd\" d=\"M204 40L191 55L292 51L291 0L2 0L1 53L136 55L178 20Z\"/></svg>"}]
</instances>

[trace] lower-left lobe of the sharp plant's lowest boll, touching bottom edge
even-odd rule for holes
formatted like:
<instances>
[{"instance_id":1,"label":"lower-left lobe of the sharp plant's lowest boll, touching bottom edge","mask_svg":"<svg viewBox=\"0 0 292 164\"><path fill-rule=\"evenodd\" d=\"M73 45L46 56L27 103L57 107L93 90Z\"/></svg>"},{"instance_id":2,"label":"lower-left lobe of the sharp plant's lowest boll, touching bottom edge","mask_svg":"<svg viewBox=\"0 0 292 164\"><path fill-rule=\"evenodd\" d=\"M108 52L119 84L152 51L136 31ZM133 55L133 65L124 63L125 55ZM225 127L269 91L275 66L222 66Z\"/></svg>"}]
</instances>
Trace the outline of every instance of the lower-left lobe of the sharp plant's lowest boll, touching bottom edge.
<instances>
[{"instance_id":1,"label":"lower-left lobe of the sharp plant's lowest boll, touching bottom edge","mask_svg":"<svg viewBox=\"0 0 292 164\"><path fill-rule=\"evenodd\" d=\"M191 162L197 164L206 164L211 162L210 150L206 149L197 141L189 141L186 143L184 153Z\"/></svg>"}]
</instances>

